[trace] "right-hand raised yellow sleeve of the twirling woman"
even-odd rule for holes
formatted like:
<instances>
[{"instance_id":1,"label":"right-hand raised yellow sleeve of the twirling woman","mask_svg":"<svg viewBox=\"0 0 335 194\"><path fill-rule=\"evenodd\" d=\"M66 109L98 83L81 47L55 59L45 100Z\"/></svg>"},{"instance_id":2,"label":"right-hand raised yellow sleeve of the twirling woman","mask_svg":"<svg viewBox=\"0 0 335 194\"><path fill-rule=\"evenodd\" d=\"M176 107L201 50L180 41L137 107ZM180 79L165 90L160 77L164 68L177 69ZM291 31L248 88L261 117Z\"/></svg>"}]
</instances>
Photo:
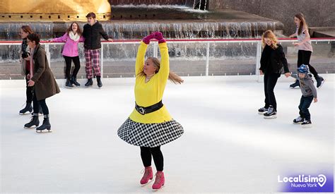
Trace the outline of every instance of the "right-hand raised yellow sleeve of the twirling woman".
<instances>
[{"instance_id":1,"label":"right-hand raised yellow sleeve of the twirling woman","mask_svg":"<svg viewBox=\"0 0 335 194\"><path fill-rule=\"evenodd\" d=\"M161 81L167 81L170 73L170 61L169 61L169 49L167 48L166 42L158 44L160 49L160 69L158 71L158 77Z\"/></svg>"}]
</instances>

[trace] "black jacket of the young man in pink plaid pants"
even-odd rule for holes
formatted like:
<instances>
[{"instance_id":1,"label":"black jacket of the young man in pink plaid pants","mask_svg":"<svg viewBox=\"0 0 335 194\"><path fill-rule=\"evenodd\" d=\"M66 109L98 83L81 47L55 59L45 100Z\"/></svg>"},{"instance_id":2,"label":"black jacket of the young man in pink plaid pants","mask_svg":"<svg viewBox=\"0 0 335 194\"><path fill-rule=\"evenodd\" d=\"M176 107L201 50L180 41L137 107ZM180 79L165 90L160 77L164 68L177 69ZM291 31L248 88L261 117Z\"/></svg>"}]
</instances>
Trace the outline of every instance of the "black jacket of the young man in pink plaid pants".
<instances>
[{"instance_id":1,"label":"black jacket of the young man in pink plaid pants","mask_svg":"<svg viewBox=\"0 0 335 194\"><path fill-rule=\"evenodd\" d=\"M101 48L101 36L108 40L108 35L105 30L102 29L102 25L97 21L93 25L88 23L83 27L83 37L85 38L84 48L85 49L100 49Z\"/></svg>"}]
</instances>

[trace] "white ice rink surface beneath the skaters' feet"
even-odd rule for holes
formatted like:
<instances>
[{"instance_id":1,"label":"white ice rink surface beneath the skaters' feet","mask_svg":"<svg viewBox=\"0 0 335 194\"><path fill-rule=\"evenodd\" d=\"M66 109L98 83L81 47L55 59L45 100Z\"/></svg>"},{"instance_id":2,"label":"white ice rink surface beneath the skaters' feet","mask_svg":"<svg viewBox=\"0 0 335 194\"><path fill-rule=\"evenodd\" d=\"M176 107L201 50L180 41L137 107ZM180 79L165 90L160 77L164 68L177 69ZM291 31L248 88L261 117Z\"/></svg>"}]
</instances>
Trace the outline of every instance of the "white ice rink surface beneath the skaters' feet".
<instances>
[{"instance_id":1,"label":"white ice rink surface beneath the skaters' feet","mask_svg":"<svg viewBox=\"0 0 335 194\"><path fill-rule=\"evenodd\" d=\"M278 175L332 174L334 74L324 75L310 107L312 128L292 123L301 92L283 77L275 88L277 119L258 114L264 90L254 76L168 83L163 103L184 135L161 147L165 186L158 193L276 192ZM151 193L153 182L139 184L139 147L117 136L134 109L134 78L104 79L101 90L96 80L74 89L57 81L61 93L47 99L52 133L41 134L23 128L30 114L18 114L24 80L0 80L1 193Z\"/></svg>"}]
</instances>

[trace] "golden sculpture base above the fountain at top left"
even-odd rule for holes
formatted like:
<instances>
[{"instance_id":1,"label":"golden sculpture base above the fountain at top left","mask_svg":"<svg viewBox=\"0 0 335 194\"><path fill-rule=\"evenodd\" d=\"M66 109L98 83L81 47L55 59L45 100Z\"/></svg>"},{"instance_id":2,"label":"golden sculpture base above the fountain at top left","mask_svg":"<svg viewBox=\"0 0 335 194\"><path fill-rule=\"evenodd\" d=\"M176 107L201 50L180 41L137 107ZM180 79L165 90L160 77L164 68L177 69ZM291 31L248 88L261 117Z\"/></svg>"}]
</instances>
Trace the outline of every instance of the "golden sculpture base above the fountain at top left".
<instances>
[{"instance_id":1,"label":"golden sculpture base above the fountain at top left","mask_svg":"<svg viewBox=\"0 0 335 194\"><path fill-rule=\"evenodd\" d=\"M94 12L98 20L110 16L110 3L108 0L2 0L0 2L0 16L9 20L30 18L86 20L89 12ZM2 17L4 18L4 17Z\"/></svg>"}]
</instances>

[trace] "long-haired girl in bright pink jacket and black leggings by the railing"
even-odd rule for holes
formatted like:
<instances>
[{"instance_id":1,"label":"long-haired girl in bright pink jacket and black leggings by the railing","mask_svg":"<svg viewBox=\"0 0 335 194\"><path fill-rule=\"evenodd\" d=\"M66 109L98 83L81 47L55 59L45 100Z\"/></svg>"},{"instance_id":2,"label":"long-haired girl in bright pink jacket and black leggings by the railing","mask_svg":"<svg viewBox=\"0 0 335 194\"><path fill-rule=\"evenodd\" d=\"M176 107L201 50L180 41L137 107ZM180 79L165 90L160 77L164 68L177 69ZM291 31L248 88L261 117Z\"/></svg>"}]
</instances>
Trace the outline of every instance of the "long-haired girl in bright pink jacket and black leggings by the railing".
<instances>
[{"instance_id":1,"label":"long-haired girl in bright pink jacket and black leggings by the railing","mask_svg":"<svg viewBox=\"0 0 335 194\"><path fill-rule=\"evenodd\" d=\"M78 42L83 42L84 38L82 36L81 28L79 28L78 23L71 23L70 27L66 30L62 37L54 38L53 42L65 42L63 48L63 56L66 63L66 87L72 88L74 85L80 86L77 82L77 73L79 68L81 68L81 62L78 56ZM71 74L71 62L74 61L74 72ZM74 84L74 85L73 85Z\"/></svg>"}]
</instances>

